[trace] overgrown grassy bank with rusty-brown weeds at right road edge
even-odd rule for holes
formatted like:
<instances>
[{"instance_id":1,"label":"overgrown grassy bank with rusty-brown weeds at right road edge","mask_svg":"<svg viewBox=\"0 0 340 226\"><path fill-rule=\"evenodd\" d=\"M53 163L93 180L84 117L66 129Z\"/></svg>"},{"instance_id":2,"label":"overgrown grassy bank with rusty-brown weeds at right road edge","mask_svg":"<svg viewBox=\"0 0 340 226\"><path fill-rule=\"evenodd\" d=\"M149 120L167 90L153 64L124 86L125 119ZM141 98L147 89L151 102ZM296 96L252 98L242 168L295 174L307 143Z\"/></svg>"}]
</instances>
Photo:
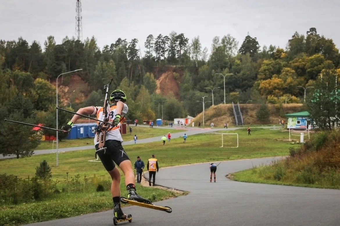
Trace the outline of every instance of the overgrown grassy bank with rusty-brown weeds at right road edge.
<instances>
[{"instance_id":1,"label":"overgrown grassy bank with rusty-brown weeds at right road edge","mask_svg":"<svg viewBox=\"0 0 340 226\"><path fill-rule=\"evenodd\" d=\"M252 169L232 173L242 182L340 189L339 130L319 131L289 157Z\"/></svg>"}]
</instances>

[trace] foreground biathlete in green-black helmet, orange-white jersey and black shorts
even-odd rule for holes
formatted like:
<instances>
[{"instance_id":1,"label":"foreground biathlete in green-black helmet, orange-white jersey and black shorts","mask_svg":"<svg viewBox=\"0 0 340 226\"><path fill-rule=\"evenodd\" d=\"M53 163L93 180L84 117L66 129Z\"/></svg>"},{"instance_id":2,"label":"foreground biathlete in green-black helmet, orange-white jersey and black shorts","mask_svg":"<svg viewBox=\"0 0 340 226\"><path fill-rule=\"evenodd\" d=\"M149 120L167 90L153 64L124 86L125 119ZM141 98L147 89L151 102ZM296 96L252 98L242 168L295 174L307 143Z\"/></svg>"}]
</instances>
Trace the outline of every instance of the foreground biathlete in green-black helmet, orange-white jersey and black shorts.
<instances>
[{"instance_id":1,"label":"foreground biathlete in green-black helmet, orange-white jersey and black shorts","mask_svg":"<svg viewBox=\"0 0 340 226\"><path fill-rule=\"evenodd\" d=\"M120 134L120 125L122 121L121 114L126 115L128 113L128 105L125 104L126 95L122 90L116 89L111 93L110 101L111 104L108 120L111 122L111 127L107 129L105 136L104 147L106 147L106 150L99 151L97 155L112 178L111 194L114 204L114 214L118 220L122 220L126 219L126 214L123 213L120 207L120 172L115 163L124 173L126 190L128 191L128 199L149 204L151 204L151 201L142 198L137 194L132 163L124 148L122 147L123 139ZM97 115L97 119L99 119L102 117L103 107L88 106L80 108L77 113L82 115ZM73 123L75 123L80 117L81 116L74 115L67 125L62 127L62 130L69 132L73 126ZM94 140L96 150L99 149L97 136L98 133Z\"/></svg>"}]
</instances>

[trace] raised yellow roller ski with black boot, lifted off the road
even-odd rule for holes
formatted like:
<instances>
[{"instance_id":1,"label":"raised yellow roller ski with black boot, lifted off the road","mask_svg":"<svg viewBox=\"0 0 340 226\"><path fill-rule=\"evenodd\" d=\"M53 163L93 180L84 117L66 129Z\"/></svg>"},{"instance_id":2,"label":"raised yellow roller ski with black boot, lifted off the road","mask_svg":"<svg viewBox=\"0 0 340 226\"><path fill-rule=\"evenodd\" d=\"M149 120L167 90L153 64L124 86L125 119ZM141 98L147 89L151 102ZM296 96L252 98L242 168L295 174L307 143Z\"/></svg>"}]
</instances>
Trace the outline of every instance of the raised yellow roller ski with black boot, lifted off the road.
<instances>
[{"instance_id":1,"label":"raised yellow roller ski with black boot, lifted off the road","mask_svg":"<svg viewBox=\"0 0 340 226\"><path fill-rule=\"evenodd\" d=\"M154 204L152 204L152 202L148 199L144 199L140 196L138 196L138 194L134 191L131 190L129 191L129 195L128 195L128 199L126 199L125 197L120 197L120 202L124 203L124 204L131 204L131 205L135 205L135 206L141 206L141 207L146 207L146 208L150 208L150 209L156 209L156 210L161 210L161 211L165 211L167 213L171 213L172 209L168 206L156 206Z\"/></svg>"}]
</instances>

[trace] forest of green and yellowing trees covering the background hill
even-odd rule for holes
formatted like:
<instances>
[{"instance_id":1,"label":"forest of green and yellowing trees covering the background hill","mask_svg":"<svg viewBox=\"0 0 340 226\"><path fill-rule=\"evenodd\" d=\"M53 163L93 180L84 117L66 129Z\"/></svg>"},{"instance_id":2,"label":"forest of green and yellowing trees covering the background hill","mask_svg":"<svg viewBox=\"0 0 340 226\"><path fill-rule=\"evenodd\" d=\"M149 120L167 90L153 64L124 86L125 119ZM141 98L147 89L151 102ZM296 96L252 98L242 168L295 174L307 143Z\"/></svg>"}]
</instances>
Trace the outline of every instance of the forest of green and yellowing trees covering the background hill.
<instances>
[{"instance_id":1,"label":"forest of green and yellowing trees covering the background hill","mask_svg":"<svg viewBox=\"0 0 340 226\"><path fill-rule=\"evenodd\" d=\"M227 103L248 100L303 103L304 89L297 86L314 86L323 70L334 69L340 74L339 49L332 39L318 34L316 28L310 28L306 34L295 32L286 48L260 46L256 37L250 35L239 45L227 34L214 37L208 53L199 36L189 40L183 33L173 31L169 35L146 37L146 50L142 53L137 47L138 41L119 38L100 49L95 37L84 42L65 37L57 44L54 37L49 36L44 46L36 41L29 44L22 37L17 41L0 40L0 118L55 127L56 90L52 82L61 73L80 68L83 70L78 75L90 90L84 101L75 101L74 95L78 94L70 97L71 110L87 105L101 106L103 85L113 78L112 90L121 88L128 97L127 118L139 121L160 118L156 101L164 100L167 100L164 119L197 115L202 105L196 101L203 96L211 100L211 92L205 87L221 87L214 90L214 102L223 103L224 80L218 74L231 74L225 77ZM169 65L182 71L175 76L180 89L177 99L171 94L155 92L155 68ZM64 79L63 85L68 81ZM59 105L67 106L63 102ZM59 115L60 128L70 114L60 112ZM6 134L15 138L11 130L16 126L4 125L1 120L0 137ZM30 133L30 127L28 130L22 129L24 127L20 126L21 132ZM2 143L1 139L4 138L0 138ZM6 150L14 152L10 149Z\"/></svg>"}]
</instances>

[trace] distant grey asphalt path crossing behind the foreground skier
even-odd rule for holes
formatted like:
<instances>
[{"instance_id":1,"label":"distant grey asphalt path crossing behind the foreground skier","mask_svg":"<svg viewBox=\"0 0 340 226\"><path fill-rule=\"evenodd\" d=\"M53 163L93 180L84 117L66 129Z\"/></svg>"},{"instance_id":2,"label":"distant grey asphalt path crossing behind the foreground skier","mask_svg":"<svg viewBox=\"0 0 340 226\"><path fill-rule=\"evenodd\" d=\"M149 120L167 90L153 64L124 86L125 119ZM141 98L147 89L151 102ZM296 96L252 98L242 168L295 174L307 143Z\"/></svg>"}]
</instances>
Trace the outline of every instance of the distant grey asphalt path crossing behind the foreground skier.
<instances>
[{"instance_id":1,"label":"distant grey asphalt path crossing behind the foreground skier","mask_svg":"<svg viewBox=\"0 0 340 226\"><path fill-rule=\"evenodd\" d=\"M149 127L147 125L138 125L140 127ZM188 136L190 135L195 135L195 134L199 134L199 133L206 133L206 132L214 132L214 131L219 131L219 130L226 130L226 131L230 131L230 130L236 130L236 129L240 129L240 127L232 127L232 128L228 128L228 129L223 129L223 128L197 128L197 127L187 127L187 128L181 128L179 126L173 126L173 127L169 127L169 126L154 126L153 129L155 129L154 131L157 131L157 128L163 128L163 129L169 129L169 132L171 133L171 138L178 138L180 136L183 136L184 133L186 133ZM262 128L272 128L272 127L262 127ZM172 132L173 130L180 130L180 129L186 129L187 131L185 132ZM246 130L245 128L243 128L244 130ZM171 131L172 130L172 131ZM167 135L167 134L164 134ZM145 139L140 139L137 140L138 144L141 143L149 143L149 142L155 142L155 141L161 141L161 138L164 136L157 136L157 137L151 137L151 138L145 138ZM93 139L89 140L90 142L93 142ZM134 140L130 140L130 141L124 141L122 144L123 146L125 145L131 145L134 144ZM67 147L67 148L58 148L58 152L62 153L62 152L66 152L66 151L78 151L78 150L88 150L88 149L94 149L95 150L95 146L93 145L87 145L87 146L80 146L80 147ZM45 150L35 150L33 155L41 155L41 154L50 154L50 153L55 153L56 149L45 149ZM11 159L11 158L16 158L16 156L12 155L12 156L2 156L0 155L0 159Z\"/></svg>"}]
</instances>

